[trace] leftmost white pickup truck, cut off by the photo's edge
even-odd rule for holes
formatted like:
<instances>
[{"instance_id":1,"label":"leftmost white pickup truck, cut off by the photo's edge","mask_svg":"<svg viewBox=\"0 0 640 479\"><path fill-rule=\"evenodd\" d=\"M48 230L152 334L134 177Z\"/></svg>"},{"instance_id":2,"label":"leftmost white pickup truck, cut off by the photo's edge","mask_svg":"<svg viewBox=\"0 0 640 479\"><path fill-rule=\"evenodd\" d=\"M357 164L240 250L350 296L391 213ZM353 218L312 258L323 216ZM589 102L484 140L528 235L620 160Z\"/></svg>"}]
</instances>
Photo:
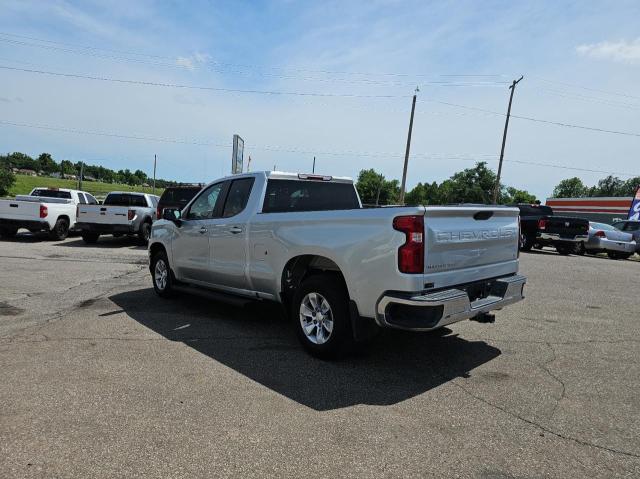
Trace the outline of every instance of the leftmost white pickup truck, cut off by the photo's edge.
<instances>
[{"instance_id":1,"label":"leftmost white pickup truck, cut off by the photo's edge","mask_svg":"<svg viewBox=\"0 0 640 479\"><path fill-rule=\"evenodd\" d=\"M65 188L34 188L29 195L0 200L0 236L12 238L20 228L32 233L49 232L54 240L75 230L77 206L98 204L86 191Z\"/></svg>"}]
</instances>

